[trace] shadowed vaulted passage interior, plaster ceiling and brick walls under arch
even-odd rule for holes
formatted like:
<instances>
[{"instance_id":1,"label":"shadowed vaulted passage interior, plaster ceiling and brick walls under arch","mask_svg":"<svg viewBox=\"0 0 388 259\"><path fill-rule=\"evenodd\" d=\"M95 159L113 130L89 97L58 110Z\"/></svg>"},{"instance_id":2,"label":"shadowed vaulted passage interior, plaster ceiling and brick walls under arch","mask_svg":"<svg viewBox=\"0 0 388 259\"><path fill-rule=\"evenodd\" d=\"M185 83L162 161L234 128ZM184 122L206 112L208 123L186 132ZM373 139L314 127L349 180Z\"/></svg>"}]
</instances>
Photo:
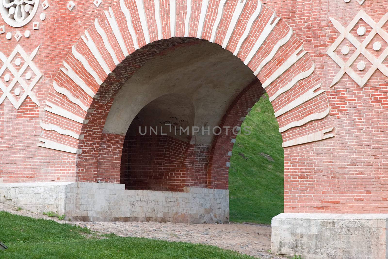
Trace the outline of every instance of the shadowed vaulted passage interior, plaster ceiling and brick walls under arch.
<instances>
[{"instance_id":1,"label":"shadowed vaulted passage interior, plaster ceiling and brick walls under arch","mask_svg":"<svg viewBox=\"0 0 388 259\"><path fill-rule=\"evenodd\" d=\"M166 44L171 47L154 54L118 91L102 145L123 136L120 183L127 189L227 189L232 129L241 125L264 91L239 58L206 40L161 40L127 61L148 56L147 50ZM245 98L251 101L236 106L239 95L252 85L258 97L249 95ZM230 118L225 121L227 115ZM100 168L104 157L100 155ZM106 181L102 174L100 179Z\"/></svg>"}]
</instances>

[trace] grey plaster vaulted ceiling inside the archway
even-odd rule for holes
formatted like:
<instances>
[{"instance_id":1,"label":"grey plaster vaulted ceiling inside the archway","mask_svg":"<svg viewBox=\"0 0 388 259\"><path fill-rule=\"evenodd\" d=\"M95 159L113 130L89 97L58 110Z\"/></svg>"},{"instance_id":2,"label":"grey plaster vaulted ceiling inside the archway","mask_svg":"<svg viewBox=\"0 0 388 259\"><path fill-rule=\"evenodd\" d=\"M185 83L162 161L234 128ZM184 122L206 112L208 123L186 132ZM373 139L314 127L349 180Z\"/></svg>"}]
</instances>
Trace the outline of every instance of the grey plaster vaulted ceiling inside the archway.
<instances>
[{"instance_id":1,"label":"grey plaster vaulted ceiling inside the archway","mask_svg":"<svg viewBox=\"0 0 388 259\"><path fill-rule=\"evenodd\" d=\"M253 80L253 72L239 58L215 43L177 45L153 57L125 83L114 99L104 132L125 134L147 104L147 112L137 116L147 126L172 119L187 121L182 126L216 127L230 103ZM168 94L175 94L175 101L171 96L163 100ZM193 106L193 118L182 112L185 99L187 109ZM204 134L196 136L196 143L209 144L212 139L212 134Z\"/></svg>"}]
</instances>

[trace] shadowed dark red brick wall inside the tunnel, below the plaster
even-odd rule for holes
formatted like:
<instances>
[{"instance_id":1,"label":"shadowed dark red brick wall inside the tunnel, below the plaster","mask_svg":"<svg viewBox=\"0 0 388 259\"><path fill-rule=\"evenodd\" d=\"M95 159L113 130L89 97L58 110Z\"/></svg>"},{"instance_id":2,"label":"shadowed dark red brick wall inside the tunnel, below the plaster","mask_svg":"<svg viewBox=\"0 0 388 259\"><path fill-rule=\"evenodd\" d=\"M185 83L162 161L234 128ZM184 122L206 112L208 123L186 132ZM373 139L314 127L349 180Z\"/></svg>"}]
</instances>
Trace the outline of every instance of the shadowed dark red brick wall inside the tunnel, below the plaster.
<instances>
[{"instance_id":1,"label":"shadowed dark red brick wall inside the tunnel, below the plaster","mask_svg":"<svg viewBox=\"0 0 388 259\"><path fill-rule=\"evenodd\" d=\"M171 136L129 136L121 155L126 189L183 191L206 187L210 145L194 145Z\"/></svg>"}]
</instances>

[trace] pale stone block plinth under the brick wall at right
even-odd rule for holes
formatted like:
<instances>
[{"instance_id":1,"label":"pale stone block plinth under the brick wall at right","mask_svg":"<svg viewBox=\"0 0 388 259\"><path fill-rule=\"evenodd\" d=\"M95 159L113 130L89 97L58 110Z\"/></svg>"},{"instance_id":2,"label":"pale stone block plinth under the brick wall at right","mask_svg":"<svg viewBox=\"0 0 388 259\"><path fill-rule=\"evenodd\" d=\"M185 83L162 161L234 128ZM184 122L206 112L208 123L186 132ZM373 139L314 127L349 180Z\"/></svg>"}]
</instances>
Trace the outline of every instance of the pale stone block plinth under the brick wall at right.
<instances>
[{"instance_id":1,"label":"pale stone block plinth under the brick wall at right","mask_svg":"<svg viewBox=\"0 0 388 259\"><path fill-rule=\"evenodd\" d=\"M388 259L388 214L282 213L272 252L304 259Z\"/></svg>"}]
</instances>

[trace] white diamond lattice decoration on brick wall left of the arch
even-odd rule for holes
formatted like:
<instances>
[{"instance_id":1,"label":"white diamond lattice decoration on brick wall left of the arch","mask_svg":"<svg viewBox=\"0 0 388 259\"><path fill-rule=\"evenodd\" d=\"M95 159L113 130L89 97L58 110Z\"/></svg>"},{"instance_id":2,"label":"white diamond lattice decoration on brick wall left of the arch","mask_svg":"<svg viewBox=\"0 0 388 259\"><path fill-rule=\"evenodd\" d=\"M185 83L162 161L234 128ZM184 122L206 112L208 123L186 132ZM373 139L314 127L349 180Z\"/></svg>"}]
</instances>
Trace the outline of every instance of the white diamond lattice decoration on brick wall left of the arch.
<instances>
[{"instance_id":1,"label":"white diamond lattice decoration on brick wall left of the arch","mask_svg":"<svg viewBox=\"0 0 388 259\"><path fill-rule=\"evenodd\" d=\"M2 92L3 92L2 95L0 96L0 104L2 104L3 101L5 100L5 98L7 97L9 99L9 101L12 103L12 105L17 110L20 108L20 106L26 100L27 96L29 96L31 98L31 100L36 105L40 106L38 99L36 98L35 94L32 92L32 89L35 87L35 85L38 83L38 81L42 77L42 73L40 73L38 68L33 63L33 59L36 56L36 54L38 53L39 47L40 46L36 47L33 50L33 52L31 52L31 54L28 55L20 45L17 45L16 48L14 49L14 51L12 51L12 53L10 54L10 56L8 58L5 57L5 55L2 52L0 52L0 60L3 62L3 66L0 67L0 78L2 77L4 71L7 68L13 75L13 78L7 87L0 80L0 90L2 90ZM19 54L18 56L21 56L21 58L23 59L23 66L21 66L20 68L19 67L15 68L12 65L12 61L14 60L14 58L17 54ZM18 58L18 59L20 60L20 63L18 62L19 66L20 66L21 59L20 58ZM27 68L30 68L35 74L35 77L31 81L28 81L28 82L26 82L26 80L24 80L24 72L26 71ZM5 75L4 77L8 78L8 76ZM5 78L5 79L7 79L7 78ZM11 78L9 76L9 80L10 79ZM23 94L19 97L18 101L11 94L11 91L14 88L14 86L16 85L16 83L19 83L19 85L21 85L21 87L24 90Z\"/></svg>"}]
</instances>

